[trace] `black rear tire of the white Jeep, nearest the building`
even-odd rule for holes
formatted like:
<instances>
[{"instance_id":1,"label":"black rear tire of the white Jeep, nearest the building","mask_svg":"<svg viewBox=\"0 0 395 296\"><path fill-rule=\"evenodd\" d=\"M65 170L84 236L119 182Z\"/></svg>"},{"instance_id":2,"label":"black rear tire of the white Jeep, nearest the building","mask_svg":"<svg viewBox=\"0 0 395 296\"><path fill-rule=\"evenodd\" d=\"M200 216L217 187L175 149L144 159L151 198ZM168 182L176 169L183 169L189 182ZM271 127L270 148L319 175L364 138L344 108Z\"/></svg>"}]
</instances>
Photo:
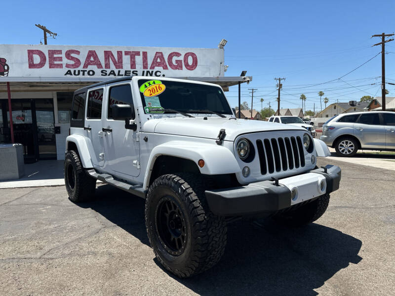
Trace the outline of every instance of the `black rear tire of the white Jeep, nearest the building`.
<instances>
[{"instance_id":1,"label":"black rear tire of the white Jeep, nearest the building","mask_svg":"<svg viewBox=\"0 0 395 296\"><path fill-rule=\"evenodd\" d=\"M65 156L65 185L69 198L73 202L91 201L95 195L96 179L86 174L79 155L69 150Z\"/></svg>"}]
</instances>

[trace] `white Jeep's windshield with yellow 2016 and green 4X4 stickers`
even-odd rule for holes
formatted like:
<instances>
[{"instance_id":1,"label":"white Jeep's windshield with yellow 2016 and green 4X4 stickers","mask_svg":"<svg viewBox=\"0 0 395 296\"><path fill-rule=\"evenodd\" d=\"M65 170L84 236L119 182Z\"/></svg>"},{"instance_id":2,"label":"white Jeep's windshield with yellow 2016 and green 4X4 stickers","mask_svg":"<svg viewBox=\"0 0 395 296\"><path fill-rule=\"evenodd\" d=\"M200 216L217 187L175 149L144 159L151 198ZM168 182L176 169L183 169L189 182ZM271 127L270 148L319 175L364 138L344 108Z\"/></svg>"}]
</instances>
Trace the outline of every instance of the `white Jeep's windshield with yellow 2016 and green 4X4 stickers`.
<instances>
[{"instance_id":1,"label":"white Jeep's windshield with yellow 2016 and green 4X4 stickers","mask_svg":"<svg viewBox=\"0 0 395 296\"><path fill-rule=\"evenodd\" d=\"M217 86L152 79L139 79L138 86L146 113L211 111L233 115L223 91Z\"/></svg>"}]
</instances>

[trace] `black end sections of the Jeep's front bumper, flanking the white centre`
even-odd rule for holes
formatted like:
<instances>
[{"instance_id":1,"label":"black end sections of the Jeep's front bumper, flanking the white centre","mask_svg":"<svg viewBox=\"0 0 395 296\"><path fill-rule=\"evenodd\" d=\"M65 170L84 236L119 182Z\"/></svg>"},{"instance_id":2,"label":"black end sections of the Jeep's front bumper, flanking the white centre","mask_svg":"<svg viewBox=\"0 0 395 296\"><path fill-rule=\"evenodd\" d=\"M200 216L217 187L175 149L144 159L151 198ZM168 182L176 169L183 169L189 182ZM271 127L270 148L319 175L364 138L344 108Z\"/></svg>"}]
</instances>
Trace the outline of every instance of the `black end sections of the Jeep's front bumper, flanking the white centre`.
<instances>
[{"instance_id":1,"label":"black end sections of the Jeep's front bumper, flanking the white centre","mask_svg":"<svg viewBox=\"0 0 395 296\"><path fill-rule=\"evenodd\" d=\"M338 166L326 165L325 169L319 168L308 173L325 177L325 193L339 189L341 169ZM279 182L281 183L281 180ZM291 190L281 184L276 186L273 181L259 182L259 187L252 183L232 188L206 190L205 195L211 212L218 216L270 213L291 206Z\"/></svg>"}]
</instances>

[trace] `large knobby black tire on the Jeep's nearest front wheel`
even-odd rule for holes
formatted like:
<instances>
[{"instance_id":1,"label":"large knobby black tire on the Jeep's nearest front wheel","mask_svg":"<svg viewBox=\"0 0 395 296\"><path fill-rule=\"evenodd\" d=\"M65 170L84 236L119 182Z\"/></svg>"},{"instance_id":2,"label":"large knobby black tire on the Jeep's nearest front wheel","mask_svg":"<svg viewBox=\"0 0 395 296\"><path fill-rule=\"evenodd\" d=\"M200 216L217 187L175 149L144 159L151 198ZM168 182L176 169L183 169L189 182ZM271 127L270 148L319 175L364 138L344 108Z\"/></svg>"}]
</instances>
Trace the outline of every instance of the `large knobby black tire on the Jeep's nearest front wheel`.
<instances>
[{"instance_id":1,"label":"large knobby black tire on the Jeep's nearest front wheel","mask_svg":"<svg viewBox=\"0 0 395 296\"><path fill-rule=\"evenodd\" d=\"M147 193L145 220L150 244L164 268L181 278L209 269L224 254L226 222L223 217L210 212L204 195L205 189L200 176L177 173L158 177ZM185 218L185 249L178 255L171 254L171 249L166 247L159 235L158 229L163 226L157 223L160 213L158 209L163 198L175 203Z\"/></svg>"}]
</instances>

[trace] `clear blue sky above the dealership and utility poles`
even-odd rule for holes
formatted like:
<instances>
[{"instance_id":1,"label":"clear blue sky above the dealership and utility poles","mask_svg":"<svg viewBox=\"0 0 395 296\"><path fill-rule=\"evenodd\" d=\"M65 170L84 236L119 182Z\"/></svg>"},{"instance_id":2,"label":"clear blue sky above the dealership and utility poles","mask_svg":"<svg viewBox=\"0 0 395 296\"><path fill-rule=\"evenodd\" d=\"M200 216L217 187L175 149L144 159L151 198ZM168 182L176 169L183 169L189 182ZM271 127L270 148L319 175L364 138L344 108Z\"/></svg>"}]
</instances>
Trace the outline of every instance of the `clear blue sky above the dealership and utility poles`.
<instances>
[{"instance_id":1,"label":"clear blue sky above the dealership and utility poles","mask_svg":"<svg viewBox=\"0 0 395 296\"><path fill-rule=\"evenodd\" d=\"M227 76L247 70L257 88L254 108L276 105L276 81L285 77L281 107L319 110L317 92L329 104L380 96L381 55L348 74L381 48L374 34L395 31L395 1L2 1L0 42L37 44L45 25L58 33L49 44L216 47L222 38ZM395 82L395 41L387 43L387 81ZM373 85L371 85L373 84ZM387 85L390 96L395 86ZM237 105L237 86L226 93ZM256 98L256 99L255 99ZM323 106L323 104L322 104Z\"/></svg>"}]
</instances>

